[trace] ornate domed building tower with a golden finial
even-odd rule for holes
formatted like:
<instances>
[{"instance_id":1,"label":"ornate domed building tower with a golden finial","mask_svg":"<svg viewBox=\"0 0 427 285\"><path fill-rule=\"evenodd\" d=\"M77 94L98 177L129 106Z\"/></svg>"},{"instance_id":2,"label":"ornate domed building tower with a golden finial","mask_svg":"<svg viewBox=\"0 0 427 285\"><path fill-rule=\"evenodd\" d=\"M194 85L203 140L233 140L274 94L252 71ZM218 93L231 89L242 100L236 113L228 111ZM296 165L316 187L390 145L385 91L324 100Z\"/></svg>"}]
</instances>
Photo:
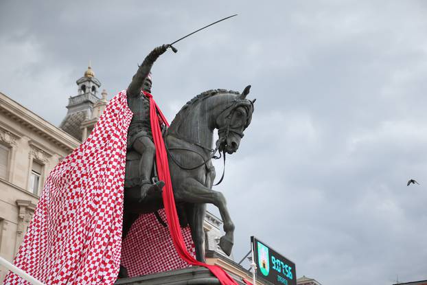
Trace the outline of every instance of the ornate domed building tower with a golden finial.
<instances>
[{"instance_id":1,"label":"ornate domed building tower with a golden finial","mask_svg":"<svg viewBox=\"0 0 427 285\"><path fill-rule=\"evenodd\" d=\"M59 127L82 141L87 136L87 134L84 135L82 122L92 118L93 107L101 100L97 97L101 83L95 78L90 63L84 76L77 80L76 84L78 85L78 95L69 98L67 115Z\"/></svg>"}]
</instances>

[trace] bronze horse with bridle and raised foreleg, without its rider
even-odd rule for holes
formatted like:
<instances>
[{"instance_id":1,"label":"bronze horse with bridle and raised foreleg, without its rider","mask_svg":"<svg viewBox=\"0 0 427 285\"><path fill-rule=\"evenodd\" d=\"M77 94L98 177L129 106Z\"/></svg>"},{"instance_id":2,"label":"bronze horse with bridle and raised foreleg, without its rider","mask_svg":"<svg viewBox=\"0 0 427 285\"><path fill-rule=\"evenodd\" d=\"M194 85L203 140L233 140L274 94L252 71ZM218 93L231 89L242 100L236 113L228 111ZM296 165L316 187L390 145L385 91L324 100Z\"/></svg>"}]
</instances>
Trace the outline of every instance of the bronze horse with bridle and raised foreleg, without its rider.
<instances>
[{"instance_id":1,"label":"bronze horse with bridle and raised foreleg, without its rider","mask_svg":"<svg viewBox=\"0 0 427 285\"><path fill-rule=\"evenodd\" d=\"M216 176L211 158L216 150L223 152L223 155L238 150L243 132L251 123L255 102L246 99L249 89L250 86L246 87L242 93L224 89L200 93L183 106L163 135L180 224L181 227L189 225L196 259L200 262L205 262L203 220L207 203L218 207L224 223L221 249L230 255L233 247L234 225L224 194L211 189ZM213 150L215 129L218 129L219 138ZM133 179L131 176L137 175L139 159L139 153L128 150L126 179ZM135 193L139 193L139 190L125 189L122 238L139 214L155 213L163 208L161 192L152 193L142 201Z\"/></svg>"}]
</instances>

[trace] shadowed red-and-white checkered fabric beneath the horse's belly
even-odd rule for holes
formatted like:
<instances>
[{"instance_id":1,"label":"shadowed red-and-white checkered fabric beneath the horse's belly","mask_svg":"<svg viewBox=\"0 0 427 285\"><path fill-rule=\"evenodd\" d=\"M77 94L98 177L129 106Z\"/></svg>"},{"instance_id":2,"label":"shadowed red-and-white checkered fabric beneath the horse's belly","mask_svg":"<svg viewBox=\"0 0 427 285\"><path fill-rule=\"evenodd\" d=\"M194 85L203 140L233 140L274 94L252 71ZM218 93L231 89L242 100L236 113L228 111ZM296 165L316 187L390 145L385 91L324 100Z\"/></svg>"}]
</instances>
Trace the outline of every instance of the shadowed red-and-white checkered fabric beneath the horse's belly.
<instances>
[{"instance_id":1,"label":"shadowed red-and-white checkered fabric beneath the horse's belly","mask_svg":"<svg viewBox=\"0 0 427 285\"><path fill-rule=\"evenodd\" d=\"M165 211L159 211L166 221ZM195 255L189 227L181 228L187 251ZM155 234L152 234L155 233ZM140 215L122 243L122 265L129 277L189 267L176 252L169 229L154 214Z\"/></svg>"}]
</instances>

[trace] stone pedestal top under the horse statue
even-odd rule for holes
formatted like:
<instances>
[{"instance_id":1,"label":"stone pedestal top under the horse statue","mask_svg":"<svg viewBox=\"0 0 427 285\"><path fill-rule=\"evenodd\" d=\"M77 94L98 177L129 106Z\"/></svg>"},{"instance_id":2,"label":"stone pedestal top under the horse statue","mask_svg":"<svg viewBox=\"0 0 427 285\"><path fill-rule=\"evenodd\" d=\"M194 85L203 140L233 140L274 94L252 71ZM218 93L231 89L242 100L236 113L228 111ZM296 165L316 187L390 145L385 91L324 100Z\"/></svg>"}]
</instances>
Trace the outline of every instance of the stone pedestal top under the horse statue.
<instances>
[{"instance_id":1,"label":"stone pedestal top under the horse statue","mask_svg":"<svg viewBox=\"0 0 427 285\"><path fill-rule=\"evenodd\" d=\"M238 284L245 285L241 279L233 276ZM205 267L192 266L187 269L165 271L140 277L122 278L115 285L220 285L219 280Z\"/></svg>"}]
</instances>

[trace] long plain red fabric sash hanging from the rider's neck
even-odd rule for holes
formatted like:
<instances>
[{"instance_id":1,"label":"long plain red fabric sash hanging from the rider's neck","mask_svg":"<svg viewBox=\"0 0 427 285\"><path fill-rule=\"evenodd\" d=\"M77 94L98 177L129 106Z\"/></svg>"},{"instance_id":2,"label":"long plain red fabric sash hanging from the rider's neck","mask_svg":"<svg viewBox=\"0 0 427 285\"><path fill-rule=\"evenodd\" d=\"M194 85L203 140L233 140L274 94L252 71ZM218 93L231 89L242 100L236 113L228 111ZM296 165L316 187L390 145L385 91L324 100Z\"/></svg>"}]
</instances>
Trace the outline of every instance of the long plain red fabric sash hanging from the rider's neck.
<instances>
[{"instance_id":1,"label":"long plain red fabric sash hanging from the rider's neck","mask_svg":"<svg viewBox=\"0 0 427 285\"><path fill-rule=\"evenodd\" d=\"M238 285L233 278L228 275L224 269L216 265L209 265L203 262L199 262L192 255L190 255L185 247L185 242L183 241L183 236L181 234L181 228L179 225L178 214L176 214L174 192L172 191L172 181L170 179L170 170L168 163L168 154L165 150L165 143L161 135L160 122L163 122L169 126L167 120L163 113L161 113L159 106L152 99L150 93L144 92L144 94L150 99L150 121L151 121L151 131L156 146L156 163L157 163L157 173L159 174L159 179L165 182L165 187L163 187L163 204L165 207L166 218L168 220L168 227L170 231L170 236L174 242L174 246L179 256L185 262L197 266L205 266L207 269L213 273L218 280L220 280L222 285Z\"/></svg>"}]
</instances>

